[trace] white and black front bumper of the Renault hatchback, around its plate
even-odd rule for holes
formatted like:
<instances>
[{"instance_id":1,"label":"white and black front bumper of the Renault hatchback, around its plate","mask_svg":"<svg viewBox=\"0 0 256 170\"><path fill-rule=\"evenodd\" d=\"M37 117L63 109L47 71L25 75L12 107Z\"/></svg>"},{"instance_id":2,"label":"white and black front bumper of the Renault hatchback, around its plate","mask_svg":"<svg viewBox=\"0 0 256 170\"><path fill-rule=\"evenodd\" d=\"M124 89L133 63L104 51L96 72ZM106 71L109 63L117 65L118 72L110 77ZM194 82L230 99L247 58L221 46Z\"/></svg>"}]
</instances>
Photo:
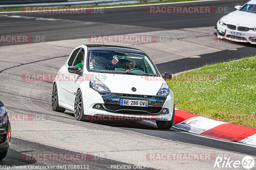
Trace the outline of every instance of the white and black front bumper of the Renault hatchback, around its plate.
<instances>
[{"instance_id":1,"label":"white and black front bumper of the Renault hatchback, around its plate","mask_svg":"<svg viewBox=\"0 0 256 170\"><path fill-rule=\"evenodd\" d=\"M171 90L170 94L165 97L98 93L93 89L88 89L85 93L86 95L93 96L90 97L90 99L85 99L86 101L84 101L84 108L88 108L88 110L84 111L84 114L90 116L104 115L104 118L108 118L108 120L172 120L174 99ZM122 107L119 104L121 98L148 100L149 105L148 107ZM100 104L102 107L100 109L96 109L96 104ZM167 114L163 114L163 108L168 110Z\"/></svg>"}]
</instances>

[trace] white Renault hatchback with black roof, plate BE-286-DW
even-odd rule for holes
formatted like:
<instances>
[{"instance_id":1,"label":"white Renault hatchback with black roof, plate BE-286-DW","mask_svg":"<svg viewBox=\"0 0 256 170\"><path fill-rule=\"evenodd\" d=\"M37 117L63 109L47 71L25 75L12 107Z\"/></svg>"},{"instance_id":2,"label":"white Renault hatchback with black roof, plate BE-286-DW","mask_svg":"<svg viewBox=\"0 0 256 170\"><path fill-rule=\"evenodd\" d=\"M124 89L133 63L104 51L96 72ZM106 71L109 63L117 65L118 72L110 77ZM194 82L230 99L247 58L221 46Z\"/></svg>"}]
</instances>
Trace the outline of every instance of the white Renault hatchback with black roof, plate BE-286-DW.
<instances>
[{"instance_id":1,"label":"white Renault hatchback with black roof, plate BE-286-DW","mask_svg":"<svg viewBox=\"0 0 256 170\"><path fill-rule=\"evenodd\" d=\"M171 78L139 49L78 46L53 81L52 110L72 110L79 121L156 120L170 129L174 96L165 80Z\"/></svg>"}]
</instances>

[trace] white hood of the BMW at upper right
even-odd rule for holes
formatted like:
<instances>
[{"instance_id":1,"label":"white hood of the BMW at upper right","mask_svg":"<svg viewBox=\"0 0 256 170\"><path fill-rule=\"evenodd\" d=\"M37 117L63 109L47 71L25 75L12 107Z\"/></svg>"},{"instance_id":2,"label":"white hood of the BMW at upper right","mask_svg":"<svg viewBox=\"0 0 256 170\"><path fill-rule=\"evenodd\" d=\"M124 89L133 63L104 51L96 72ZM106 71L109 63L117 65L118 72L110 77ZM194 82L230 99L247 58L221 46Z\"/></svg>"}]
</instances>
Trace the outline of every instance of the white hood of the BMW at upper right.
<instances>
[{"instance_id":1,"label":"white hood of the BMW at upper right","mask_svg":"<svg viewBox=\"0 0 256 170\"><path fill-rule=\"evenodd\" d=\"M225 24L233 24L236 26L245 26L249 28L256 28L256 14L252 12L244 12L244 11L233 11L228 15L225 15L221 18L221 20ZM239 24L239 25L237 25Z\"/></svg>"}]
</instances>

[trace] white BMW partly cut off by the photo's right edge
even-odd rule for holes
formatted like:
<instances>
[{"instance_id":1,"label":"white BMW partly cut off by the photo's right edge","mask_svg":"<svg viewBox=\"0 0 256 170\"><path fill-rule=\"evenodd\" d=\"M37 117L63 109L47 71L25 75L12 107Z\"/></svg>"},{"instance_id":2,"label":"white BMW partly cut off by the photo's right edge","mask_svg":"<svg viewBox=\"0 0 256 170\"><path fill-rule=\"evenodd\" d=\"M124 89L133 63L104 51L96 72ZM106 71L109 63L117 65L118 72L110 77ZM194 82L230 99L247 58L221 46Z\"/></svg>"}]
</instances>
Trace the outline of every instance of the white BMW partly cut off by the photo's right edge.
<instances>
[{"instance_id":1,"label":"white BMW partly cut off by the photo's right edge","mask_svg":"<svg viewBox=\"0 0 256 170\"><path fill-rule=\"evenodd\" d=\"M243 6L235 6L236 11L220 18L216 25L219 39L256 44L256 0Z\"/></svg>"}]
</instances>

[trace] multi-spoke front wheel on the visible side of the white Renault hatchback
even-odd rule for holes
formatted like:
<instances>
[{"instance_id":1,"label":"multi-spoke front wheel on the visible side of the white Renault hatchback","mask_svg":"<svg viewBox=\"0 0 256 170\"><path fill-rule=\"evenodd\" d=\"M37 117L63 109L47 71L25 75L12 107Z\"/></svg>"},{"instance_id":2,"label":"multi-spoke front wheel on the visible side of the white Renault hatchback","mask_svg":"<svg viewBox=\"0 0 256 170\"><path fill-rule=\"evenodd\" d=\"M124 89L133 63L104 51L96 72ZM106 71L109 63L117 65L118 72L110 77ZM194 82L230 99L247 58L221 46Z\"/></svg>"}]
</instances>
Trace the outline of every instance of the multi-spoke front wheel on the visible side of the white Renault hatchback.
<instances>
[{"instance_id":1,"label":"multi-spoke front wheel on the visible side of the white Renault hatchback","mask_svg":"<svg viewBox=\"0 0 256 170\"><path fill-rule=\"evenodd\" d=\"M84 115L83 96L80 89L76 93L74 113L76 120L89 122L89 115Z\"/></svg>"}]
</instances>

